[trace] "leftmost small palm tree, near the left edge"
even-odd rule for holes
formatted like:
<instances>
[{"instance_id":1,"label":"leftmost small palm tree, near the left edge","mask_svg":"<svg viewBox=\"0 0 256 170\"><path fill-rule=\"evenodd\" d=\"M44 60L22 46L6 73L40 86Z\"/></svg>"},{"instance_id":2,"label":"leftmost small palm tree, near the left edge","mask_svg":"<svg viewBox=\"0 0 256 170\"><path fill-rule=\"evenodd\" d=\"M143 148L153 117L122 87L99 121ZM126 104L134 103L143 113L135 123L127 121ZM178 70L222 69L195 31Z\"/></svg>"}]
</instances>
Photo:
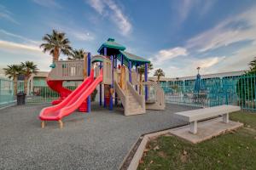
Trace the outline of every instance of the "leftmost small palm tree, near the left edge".
<instances>
[{"instance_id":1,"label":"leftmost small palm tree, near the left edge","mask_svg":"<svg viewBox=\"0 0 256 170\"><path fill-rule=\"evenodd\" d=\"M17 82L18 76L24 73L24 70L20 65L7 65L7 68L3 68L6 76L12 78L14 81L15 95L17 94Z\"/></svg>"}]
</instances>

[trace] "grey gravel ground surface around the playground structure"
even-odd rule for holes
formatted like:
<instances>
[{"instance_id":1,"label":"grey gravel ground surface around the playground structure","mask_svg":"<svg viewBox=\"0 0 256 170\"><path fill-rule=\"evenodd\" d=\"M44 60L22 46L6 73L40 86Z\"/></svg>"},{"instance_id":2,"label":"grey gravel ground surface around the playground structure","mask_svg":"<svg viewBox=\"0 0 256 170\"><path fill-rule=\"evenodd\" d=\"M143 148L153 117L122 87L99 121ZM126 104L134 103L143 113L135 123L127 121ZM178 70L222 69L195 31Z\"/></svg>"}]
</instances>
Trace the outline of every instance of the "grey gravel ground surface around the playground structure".
<instances>
[{"instance_id":1,"label":"grey gravel ground surface around the playground structure","mask_svg":"<svg viewBox=\"0 0 256 170\"><path fill-rule=\"evenodd\" d=\"M123 116L120 108L92 105L89 114L67 116L62 129L57 122L42 129L38 113L45 106L0 110L0 169L118 169L141 134L182 125L172 113L194 109L166 105L166 111Z\"/></svg>"}]
</instances>

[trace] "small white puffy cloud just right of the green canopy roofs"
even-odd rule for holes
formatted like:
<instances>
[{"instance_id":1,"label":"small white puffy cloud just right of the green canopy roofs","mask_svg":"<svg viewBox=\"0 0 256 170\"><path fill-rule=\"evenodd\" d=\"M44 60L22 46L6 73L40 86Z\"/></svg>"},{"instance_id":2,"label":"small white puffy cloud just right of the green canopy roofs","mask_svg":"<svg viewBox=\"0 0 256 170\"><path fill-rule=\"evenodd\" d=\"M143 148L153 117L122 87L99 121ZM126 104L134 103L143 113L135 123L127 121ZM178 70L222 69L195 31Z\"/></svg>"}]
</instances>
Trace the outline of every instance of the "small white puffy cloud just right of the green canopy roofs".
<instances>
[{"instance_id":1,"label":"small white puffy cloud just right of the green canopy roofs","mask_svg":"<svg viewBox=\"0 0 256 170\"><path fill-rule=\"evenodd\" d=\"M161 49L150 60L154 62L154 65L160 66L170 59L176 58L178 56L186 56L186 55L188 55L188 51L186 48L176 47L176 48L169 48L169 49Z\"/></svg>"}]
</instances>

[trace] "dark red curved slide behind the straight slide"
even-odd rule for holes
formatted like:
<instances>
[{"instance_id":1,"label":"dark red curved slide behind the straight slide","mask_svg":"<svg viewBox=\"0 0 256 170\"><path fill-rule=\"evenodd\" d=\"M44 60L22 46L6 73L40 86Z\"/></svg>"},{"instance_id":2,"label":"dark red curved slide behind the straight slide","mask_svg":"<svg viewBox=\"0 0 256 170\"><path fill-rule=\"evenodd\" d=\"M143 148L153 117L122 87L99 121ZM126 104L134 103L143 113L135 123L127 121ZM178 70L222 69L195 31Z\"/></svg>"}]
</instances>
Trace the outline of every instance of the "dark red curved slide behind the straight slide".
<instances>
[{"instance_id":1,"label":"dark red curved slide behind the straight slide","mask_svg":"<svg viewBox=\"0 0 256 170\"><path fill-rule=\"evenodd\" d=\"M52 105L57 105L57 104L61 103L61 101L63 99L67 98L67 96L72 93L72 91L70 89L63 88L62 80L48 80L47 79L46 82L47 82L49 88L51 88L52 90L54 90L61 96L59 99L52 101L51 102Z\"/></svg>"}]
</instances>

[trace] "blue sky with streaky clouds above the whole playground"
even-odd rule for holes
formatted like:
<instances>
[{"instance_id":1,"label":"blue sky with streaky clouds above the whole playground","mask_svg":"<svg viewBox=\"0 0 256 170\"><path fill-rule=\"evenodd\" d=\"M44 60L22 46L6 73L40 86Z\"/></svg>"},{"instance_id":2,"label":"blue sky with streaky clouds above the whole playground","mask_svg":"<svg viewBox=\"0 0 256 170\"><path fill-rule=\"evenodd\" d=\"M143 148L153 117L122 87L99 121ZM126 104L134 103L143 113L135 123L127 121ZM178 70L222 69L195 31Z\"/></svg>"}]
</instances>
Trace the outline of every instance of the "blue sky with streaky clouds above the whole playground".
<instances>
[{"instance_id":1,"label":"blue sky with streaky clouds above the whole playground","mask_svg":"<svg viewBox=\"0 0 256 170\"><path fill-rule=\"evenodd\" d=\"M166 77L243 71L256 57L255 16L255 0L0 0L0 68L32 60L49 71L39 45L55 29L91 54L113 37Z\"/></svg>"}]
</instances>

